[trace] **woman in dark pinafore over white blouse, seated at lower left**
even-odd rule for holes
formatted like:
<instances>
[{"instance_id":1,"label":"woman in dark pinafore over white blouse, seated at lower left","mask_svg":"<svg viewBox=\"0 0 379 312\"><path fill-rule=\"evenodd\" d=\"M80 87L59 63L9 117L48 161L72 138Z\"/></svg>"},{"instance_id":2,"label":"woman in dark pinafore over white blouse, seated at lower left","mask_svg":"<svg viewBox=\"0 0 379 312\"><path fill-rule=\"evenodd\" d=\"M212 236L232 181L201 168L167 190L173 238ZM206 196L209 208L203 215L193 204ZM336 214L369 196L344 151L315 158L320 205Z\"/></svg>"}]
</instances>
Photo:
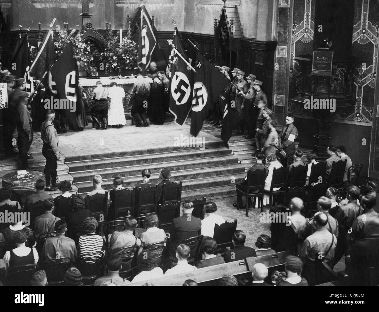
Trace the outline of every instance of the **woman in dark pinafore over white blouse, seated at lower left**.
<instances>
[{"instance_id":1,"label":"woman in dark pinafore over white blouse, seated at lower left","mask_svg":"<svg viewBox=\"0 0 379 312\"><path fill-rule=\"evenodd\" d=\"M9 250L4 255L5 262L9 267L17 267L19 265L37 264L38 253L36 248L27 247L25 243L28 239L27 234L24 231L18 231L14 236L16 242L16 248Z\"/></svg>"}]
</instances>

